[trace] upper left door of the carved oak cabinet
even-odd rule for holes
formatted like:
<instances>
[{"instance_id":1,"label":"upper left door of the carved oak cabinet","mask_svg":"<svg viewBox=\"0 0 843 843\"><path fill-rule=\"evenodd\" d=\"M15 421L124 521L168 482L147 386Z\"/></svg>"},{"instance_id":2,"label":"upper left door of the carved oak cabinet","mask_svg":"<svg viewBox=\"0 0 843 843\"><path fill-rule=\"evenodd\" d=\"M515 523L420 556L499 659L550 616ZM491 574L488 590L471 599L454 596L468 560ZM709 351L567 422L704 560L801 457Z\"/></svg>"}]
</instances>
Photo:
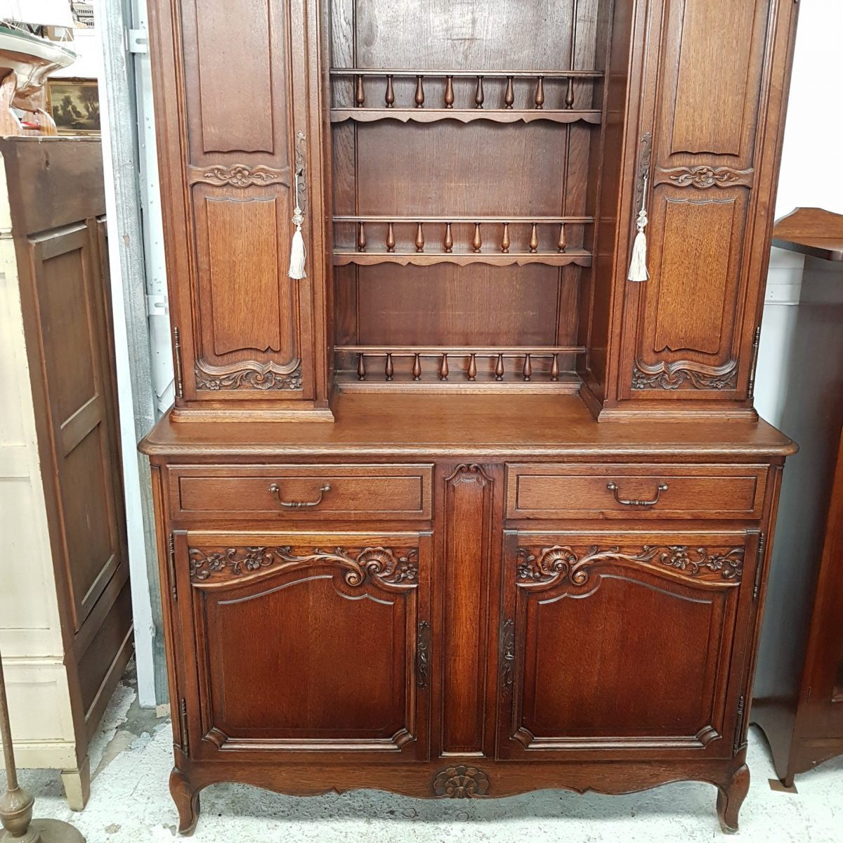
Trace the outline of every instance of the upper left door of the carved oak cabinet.
<instances>
[{"instance_id":1,"label":"upper left door of the carved oak cabinet","mask_svg":"<svg viewBox=\"0 0 843 843\"><path fill-rule=\"evenodd\" d=\"M297 181L314 246L302 0L152 6L179 403L312 399L314 248L288 277Z\"/></svg>"}]
</instances>

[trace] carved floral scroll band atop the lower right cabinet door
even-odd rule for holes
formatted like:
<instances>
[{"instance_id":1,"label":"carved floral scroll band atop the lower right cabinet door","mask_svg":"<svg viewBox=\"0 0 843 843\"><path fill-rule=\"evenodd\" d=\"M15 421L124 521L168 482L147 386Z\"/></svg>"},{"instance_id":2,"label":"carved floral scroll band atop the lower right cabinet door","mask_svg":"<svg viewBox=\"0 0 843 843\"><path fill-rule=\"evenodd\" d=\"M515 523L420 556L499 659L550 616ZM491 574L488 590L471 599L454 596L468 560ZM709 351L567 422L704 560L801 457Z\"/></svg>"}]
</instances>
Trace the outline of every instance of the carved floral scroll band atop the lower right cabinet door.
<instances>
[{"instance_id":1,"label":"carved floral scroll band atop the lower right cabinet door","mask_svg":"<svg viewBox=\"0 0 843 843\"><path fill-rule=\"evenodd\" d=\"M644 545L638 552L619 547L600 549L596 545L584 552L555 545L541 550L519 547L516 551L515 577L522 588L551 586L567 581L575 586L588 583L593 566L601 562L641 562L665 566L689 578L740 582L744 573L744 548L708 550L688 545Z\"/></svg>"}]
</instances>

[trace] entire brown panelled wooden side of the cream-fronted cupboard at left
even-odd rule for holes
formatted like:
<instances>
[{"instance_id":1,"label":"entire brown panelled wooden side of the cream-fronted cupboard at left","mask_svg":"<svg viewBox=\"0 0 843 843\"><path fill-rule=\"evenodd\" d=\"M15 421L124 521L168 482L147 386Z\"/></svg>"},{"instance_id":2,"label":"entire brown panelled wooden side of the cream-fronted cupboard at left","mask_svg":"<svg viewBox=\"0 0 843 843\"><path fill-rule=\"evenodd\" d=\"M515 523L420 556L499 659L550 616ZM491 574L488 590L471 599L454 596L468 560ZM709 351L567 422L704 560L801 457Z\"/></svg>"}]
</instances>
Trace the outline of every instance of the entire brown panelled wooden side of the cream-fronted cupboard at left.
<instances>
[{"instance_id":1,"label":"entire brown panelled wooden side of the cream-fronted cupboard at left","mask_svg":"<svg viewBox=\"0 0 843 843\"><path fill-rule=\"evenodd\" d=\"M0 142L72 710L68 767L132 653L99 141Z\"/></svg>"}]
</instances>

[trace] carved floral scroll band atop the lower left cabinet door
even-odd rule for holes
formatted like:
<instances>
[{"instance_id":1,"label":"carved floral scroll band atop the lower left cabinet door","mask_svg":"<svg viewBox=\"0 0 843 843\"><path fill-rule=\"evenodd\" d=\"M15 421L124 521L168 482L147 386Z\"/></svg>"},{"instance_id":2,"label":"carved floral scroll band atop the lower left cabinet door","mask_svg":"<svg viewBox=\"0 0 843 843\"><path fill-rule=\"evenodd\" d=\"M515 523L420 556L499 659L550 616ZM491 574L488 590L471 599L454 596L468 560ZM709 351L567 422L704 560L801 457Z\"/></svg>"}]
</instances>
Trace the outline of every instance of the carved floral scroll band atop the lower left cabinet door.
<instances>
[{"instance_id":1,"label":"carved floral scroll band atop the lower left cabinet door","mask_svg":"<svg viewBox=\"0 0 843 843\"><path fill-rule=\"evenodd\" d=\"M336 547L325 551L297 555L289 545L283 547L229 547L226 550L188 550L191 580L203 582L213 578L233 578L260 568L277 566L278 570L312 565L337 565L346 569L346 585L355 588L374 580L393 588L415 588L418 580L418 550L411 548L404 556L386 547L364 547L346 550ZM220 575L217 577L216 575Z\"/></svg>"}]
</instances>

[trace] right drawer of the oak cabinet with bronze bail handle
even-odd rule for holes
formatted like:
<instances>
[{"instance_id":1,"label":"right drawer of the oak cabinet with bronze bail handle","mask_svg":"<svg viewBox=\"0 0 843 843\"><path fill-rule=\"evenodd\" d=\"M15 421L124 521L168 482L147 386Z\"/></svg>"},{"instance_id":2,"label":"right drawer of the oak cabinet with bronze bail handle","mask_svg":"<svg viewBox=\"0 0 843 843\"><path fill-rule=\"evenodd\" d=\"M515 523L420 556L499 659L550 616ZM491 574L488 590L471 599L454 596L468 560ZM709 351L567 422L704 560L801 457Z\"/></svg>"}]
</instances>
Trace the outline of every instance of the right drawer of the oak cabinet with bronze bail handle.
<instances>
[{"instance_id":1,"label":"right drawer of the oak cabinet with bronze bail handle","mask_svg":"<svg viewBox=\"0 0 843 843\"><path fill-rule=\"evenodd\" d=\"M507 518L760 518L765 465L511 464Z\"/></svg>"}]
</instances>

